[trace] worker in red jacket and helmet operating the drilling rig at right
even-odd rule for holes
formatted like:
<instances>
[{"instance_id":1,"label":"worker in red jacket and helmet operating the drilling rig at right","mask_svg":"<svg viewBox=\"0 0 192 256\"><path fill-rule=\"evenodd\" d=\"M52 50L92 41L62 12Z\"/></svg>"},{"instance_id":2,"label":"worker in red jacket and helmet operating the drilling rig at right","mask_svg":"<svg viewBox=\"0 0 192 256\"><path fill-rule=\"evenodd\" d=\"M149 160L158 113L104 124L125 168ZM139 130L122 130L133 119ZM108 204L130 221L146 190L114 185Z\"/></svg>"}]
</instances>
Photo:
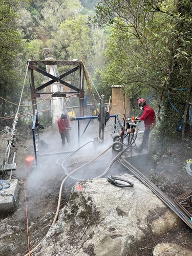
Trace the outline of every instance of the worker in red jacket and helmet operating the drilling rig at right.
<instances>
[{"instance_id":1,"label":"worker in red jacket and helmet operating the drilling rig at right","mask_svg":"<svg viewBox=\"0 0 192 256\"><path fill-rule=\"evenodd\" d=\"M137 101L137 104L140 106L140 109L143 110L141 117L136 117L137 120L144 121L145 130L143 133L143 140L141 145L137 148L139 152L143 151L143 148L148 147L148 139L150 137L150 132L152 127L156 122L155 111L146 104L146 100L141 98Z\"/></svg>"}]
</instances>

